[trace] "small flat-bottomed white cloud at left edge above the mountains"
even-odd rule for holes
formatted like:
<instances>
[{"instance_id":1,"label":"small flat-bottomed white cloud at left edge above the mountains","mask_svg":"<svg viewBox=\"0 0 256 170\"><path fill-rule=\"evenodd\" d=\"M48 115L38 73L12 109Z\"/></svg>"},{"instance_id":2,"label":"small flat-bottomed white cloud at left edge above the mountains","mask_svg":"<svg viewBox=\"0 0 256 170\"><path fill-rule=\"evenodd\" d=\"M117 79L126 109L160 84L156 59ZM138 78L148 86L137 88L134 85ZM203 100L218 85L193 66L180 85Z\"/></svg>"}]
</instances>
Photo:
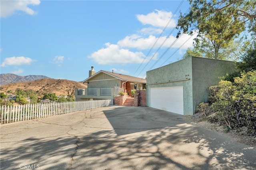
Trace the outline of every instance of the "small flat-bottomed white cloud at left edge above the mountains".
<instances>
[{"instance_id":1,"label":"small flat-bottomed white cloud at left edge above the mountains","mask_svg":"<svg viewBox=\"0 0 256 170\"><path fill-rule=\"evenodd\" d=\"M1 67L5 67L7 65L30 65L32 63L32 59L29 57L8 57L4 59Z\"/></svg>"}]
</instances>

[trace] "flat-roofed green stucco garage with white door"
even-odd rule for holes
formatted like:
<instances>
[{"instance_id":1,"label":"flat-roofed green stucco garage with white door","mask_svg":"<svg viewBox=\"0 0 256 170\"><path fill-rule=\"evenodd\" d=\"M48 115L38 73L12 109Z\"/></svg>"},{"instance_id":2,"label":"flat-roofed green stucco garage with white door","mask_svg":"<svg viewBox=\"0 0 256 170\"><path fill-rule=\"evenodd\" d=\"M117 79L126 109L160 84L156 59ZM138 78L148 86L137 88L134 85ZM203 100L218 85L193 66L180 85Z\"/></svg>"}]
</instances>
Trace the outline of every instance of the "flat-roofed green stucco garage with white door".
<instances>
[{"instance_id":1,"label":"flat-roofed green stucco garage with white door","mask_svg":"<svg viewBox=\"0 0 256 170\"><path fill-rule=\"evenodd\" d=\"M208 101L210 86L235 70L234 62L189 57L147 71L147 106L181 115L193 115Z\"/></svg>"}]
</instances>

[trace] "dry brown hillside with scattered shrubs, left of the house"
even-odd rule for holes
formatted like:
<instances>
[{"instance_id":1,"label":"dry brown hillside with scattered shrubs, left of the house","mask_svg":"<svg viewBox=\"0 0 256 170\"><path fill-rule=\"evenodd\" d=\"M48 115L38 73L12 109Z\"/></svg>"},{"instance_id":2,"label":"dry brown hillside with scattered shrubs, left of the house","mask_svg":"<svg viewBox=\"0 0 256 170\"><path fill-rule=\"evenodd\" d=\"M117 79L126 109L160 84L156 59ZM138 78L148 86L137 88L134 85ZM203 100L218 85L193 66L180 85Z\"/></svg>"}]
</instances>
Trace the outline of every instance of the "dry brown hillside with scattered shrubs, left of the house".
<instances>
[{"instance_id":1,"label":"dry brown hillside with scattered shrubs, left of the house","mask_svg":"<svg viewBox=\"0 0 256 170\"><path fill-rule=\"evenodd\" d=\"M38 95L44 95L44 93L56 93L56 95L74 95L75 89L85 89L87 88L87 84L71 80L47 78L0 86L1 91L9 91L10 93L13 93L18 88L23 90L32 89L36 91Z\"/></svg>"}]
</instances>

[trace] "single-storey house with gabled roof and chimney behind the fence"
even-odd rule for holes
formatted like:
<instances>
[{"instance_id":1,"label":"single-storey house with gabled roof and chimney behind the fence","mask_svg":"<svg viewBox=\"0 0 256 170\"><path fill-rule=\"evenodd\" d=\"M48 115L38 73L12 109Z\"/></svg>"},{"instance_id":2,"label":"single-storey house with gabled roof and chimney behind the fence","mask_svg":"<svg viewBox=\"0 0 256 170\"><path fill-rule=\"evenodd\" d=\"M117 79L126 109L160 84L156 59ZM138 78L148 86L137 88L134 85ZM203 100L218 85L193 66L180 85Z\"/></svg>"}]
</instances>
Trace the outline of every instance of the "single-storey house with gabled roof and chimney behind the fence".
<instances>
[{"instance_id":1,"label":"single-storey house with gabled roof and chimney behind the fence","mask_svg":"<svg viewBox=\"0 0 256 170\"><path fill-rule=\"evenodd\" d=\"M146 89L146 79L100 70L96 73L94 67L89 70L89 77L83 81L87 89L76 89L76 101L88 99L114 99L120 91L131 94L131 90Z\"/></svg>"}]
</instances>

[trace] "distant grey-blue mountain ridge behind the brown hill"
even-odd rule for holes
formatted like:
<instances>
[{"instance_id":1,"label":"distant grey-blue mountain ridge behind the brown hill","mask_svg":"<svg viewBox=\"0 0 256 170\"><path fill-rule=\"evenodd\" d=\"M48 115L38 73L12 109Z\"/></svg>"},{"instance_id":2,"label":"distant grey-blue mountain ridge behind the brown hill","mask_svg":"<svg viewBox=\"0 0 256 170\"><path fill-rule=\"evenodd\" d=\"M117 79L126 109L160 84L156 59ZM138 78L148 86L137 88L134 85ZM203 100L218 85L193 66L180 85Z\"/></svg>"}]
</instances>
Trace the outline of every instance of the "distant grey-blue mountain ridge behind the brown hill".
<instances>
[{"instance_id":1,"label":"distant grey-blue mountain ridge behind the brown hill","mask_svg":"<svg viewBox=\"0 0 256 170\"><path fill-rule=\"evenodd\" d=\"M0 85L33 81L33 80L39 80L39 79L45 79L45 78L50 78L50 77L46 77L44 75L20 76L20 75L16 75L16 74L0 74Z\"/></svg>"}]
</instances>

